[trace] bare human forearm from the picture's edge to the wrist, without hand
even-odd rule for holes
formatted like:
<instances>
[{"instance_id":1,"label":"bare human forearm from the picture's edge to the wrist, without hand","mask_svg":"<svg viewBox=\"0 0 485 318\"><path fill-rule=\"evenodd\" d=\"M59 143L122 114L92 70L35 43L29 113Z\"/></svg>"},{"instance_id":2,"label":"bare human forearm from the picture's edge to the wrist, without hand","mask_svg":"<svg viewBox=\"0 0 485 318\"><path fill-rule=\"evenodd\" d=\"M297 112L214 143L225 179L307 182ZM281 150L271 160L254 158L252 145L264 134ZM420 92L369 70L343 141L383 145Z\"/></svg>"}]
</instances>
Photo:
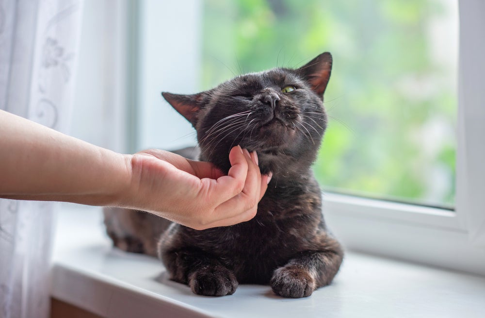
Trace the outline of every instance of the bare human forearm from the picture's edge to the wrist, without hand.
<instances>
[{"instance_id":1,"label":"bare human forearm from the picture's edge to the wrist, without hand","mask_svg":"<svg viewBox=\"0 0 485 318\"><path fill-rule=\"evenodd\" d=\"M129 156L0 110L0 197L109 205L129 187Z\"/></svg>"}]
</instances>

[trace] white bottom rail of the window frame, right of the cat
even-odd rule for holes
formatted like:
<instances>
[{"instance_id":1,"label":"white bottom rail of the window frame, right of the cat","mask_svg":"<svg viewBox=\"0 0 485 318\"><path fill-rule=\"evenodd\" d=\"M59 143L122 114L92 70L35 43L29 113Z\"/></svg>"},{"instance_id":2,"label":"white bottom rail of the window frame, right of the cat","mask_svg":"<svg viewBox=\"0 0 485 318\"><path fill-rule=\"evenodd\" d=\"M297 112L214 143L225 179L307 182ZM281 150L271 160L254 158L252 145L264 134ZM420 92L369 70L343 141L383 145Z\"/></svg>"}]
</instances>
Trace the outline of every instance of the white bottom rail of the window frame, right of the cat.
<instances>
[{"instance_id":1,"label":"white bottom rail of the window frame, right of the cat","mask_svg":"<svg viewBox=\"0 0 485 318\"><path fill-rule=\"evenodd\" d=\"M329 193L323 211L352 251L485 276L485 249L470 242L458 213Z\"/></svg>"}]
</instances>

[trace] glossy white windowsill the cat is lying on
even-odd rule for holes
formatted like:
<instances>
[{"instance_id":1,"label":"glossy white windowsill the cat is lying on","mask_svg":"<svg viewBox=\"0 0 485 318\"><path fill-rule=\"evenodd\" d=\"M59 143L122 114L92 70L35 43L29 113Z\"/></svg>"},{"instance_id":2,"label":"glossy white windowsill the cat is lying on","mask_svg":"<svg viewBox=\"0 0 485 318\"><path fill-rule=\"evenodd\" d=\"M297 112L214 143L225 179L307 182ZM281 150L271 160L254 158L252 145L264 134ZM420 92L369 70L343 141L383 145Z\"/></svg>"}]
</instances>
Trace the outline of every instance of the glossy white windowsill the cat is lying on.
<instances>
[{"instance_id":1,"label":"glossy white windowsill the cat is lying on","mask_svg":"<svg viewBox=\"0 0 485 318\"><path fill-rule=\"evenodd\" d=\"M111 247L99 208L59 213L52 297L102 317L483 317L485 278L347 252L330 286L305 299L240 285L226 297L194 295L162 264Z\"/></svg>"}]
</instances>

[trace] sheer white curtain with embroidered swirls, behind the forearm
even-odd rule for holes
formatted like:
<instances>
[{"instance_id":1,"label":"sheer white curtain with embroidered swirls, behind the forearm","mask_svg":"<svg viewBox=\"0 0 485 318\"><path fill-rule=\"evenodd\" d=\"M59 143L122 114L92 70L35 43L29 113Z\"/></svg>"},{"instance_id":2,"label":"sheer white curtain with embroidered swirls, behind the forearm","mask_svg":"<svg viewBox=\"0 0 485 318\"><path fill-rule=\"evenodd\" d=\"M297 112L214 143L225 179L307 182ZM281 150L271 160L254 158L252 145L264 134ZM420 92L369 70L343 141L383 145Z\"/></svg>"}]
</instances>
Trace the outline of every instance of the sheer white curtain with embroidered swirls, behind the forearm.
<instances>
[{"instance_id":1,"label":"sheer white curtain with embroidered swirls, behind the forearm","mask_svg":"<svg viewBox=\"0 0 485 318\"><path fill-rule=\"evenodd\" d=\"M82 0L0 0L0 109L67 132L81 13ZM0 318L48 317L53 212L0 200Z\"/></svg>"}]
</instances>

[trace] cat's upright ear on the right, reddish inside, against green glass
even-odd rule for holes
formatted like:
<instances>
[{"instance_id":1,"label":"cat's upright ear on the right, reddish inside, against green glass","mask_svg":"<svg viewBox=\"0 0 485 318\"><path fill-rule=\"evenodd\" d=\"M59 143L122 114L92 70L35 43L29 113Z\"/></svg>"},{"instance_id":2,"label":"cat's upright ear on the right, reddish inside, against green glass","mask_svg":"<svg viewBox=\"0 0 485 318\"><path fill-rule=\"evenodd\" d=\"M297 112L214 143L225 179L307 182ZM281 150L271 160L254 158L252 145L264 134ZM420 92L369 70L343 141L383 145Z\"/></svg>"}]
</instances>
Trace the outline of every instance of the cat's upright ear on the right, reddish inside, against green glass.
<instances>
[{"instance_id":1,"label":"cat's upright ear on the right, reddish inside, against green glass","mask_svg":"<svg viewBox=\"0 0 485 318\"><path fill-rule=\"evenodd\" d=\"M332 54L322 53L297 69L298 73L311 85L319 96L323 96L332 72Z\"/></svg>"}]
</instances>

